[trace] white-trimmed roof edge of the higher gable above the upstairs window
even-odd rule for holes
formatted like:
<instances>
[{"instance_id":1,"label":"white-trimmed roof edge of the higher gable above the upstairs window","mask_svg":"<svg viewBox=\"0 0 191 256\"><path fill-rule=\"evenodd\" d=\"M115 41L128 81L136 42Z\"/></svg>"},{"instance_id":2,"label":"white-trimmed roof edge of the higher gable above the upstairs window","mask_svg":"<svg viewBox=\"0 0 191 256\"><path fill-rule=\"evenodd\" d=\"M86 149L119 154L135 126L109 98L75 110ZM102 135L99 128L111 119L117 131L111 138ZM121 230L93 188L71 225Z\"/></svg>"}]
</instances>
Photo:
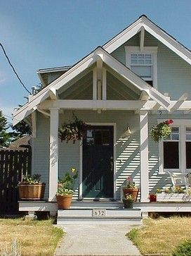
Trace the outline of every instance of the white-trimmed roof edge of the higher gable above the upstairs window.
<instances>
[{"instance_id":1,"label":"white-trimmed roof edge of the higher gable above the upstairs window","mask_svg":"<svg viewBox=\"0 0 191 256\"><path fill-rule=\"evenodd\" d=\"M152 20L147 18L145 15L140 16L138 20L113 37L109 42L104 44L103 49L109 53L112 53L112 51L119 48L122 44L131 39L131 37L140 32L141 28L145 28L147 32L166 45L166 47L169 47L169 49L178 54L178 56L187 61L187 63L191 64L190 50L184 47L183 44L180 44L180 42L178 42L175 38L171 37L171 35L169 35L162 28L159 28L158 25L154 24Z\"/></svg>"}]
</instances>

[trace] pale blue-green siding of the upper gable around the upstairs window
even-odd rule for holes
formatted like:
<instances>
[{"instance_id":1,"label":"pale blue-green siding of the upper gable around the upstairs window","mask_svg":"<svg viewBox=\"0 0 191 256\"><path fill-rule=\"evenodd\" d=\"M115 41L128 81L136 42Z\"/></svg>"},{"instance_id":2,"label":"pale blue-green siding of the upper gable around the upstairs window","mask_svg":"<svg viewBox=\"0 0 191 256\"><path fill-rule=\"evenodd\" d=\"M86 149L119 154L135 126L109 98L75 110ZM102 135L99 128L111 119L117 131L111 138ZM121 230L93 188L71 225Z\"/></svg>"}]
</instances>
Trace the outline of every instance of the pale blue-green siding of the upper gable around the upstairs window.
<instances>
[{"instance_id":1,"label":"pale blue-green siding of the upper gable around the upstairs window","mask_svg":"<svg viewBox=\"0 0 191 256\"><path fill-rule=\"evenodd\" d=\"M124 64L126 64L124 47L127 45L139 46L138 35L112 52L112 56ZM159 92L169 92L171 99L179 99L184 92L190 93L191 66L148 32L145 32L145 46L158 47L157 85Z\"/></svg>"}]
</instances>

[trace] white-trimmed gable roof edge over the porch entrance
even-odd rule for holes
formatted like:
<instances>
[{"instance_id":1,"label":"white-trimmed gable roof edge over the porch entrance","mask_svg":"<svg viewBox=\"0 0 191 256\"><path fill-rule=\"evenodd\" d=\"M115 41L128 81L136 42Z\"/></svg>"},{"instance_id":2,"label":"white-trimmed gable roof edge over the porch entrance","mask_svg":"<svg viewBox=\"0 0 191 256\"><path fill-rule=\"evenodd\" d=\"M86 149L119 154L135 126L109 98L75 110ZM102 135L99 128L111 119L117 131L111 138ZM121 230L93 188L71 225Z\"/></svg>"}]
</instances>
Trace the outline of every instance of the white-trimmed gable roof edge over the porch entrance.
<instances>
[{"instance_id":1,"label":"white-trimmed gable roof edge over the porch entrance","mask_svg":"<svg viewBox=\"0 0 191 256\"><path fill-rule=\"evenodd\" d=\"M98 58L101 58L103 62L107 64L107 66L110 66L110 68L119 73L119 75L121 75L123 78L129 80L129 82L137 87L138 90L145 91L147 95L154 99L155 102L169 110L169 101L166 99L166 97L164 97L164 95L148 85L143 79L133 73L133 71L117 61L117 59L114 59L114 57L108 54L107 51L105 51L102 47L98 47L92 51L91 54L88 54L88 56L72 66L72 68L70 68L64 74L60 75L60 77L55 79L51 84L44 87L44 89L38 92L37 95L30 97L27 104L22 106L17 111L14 111L13 125L21 121L23 118L29 116L29 114L37 109L38 104L44 102L44 100L48 97L52 95L55 95L56 97L57 90L60 89L60 87L65 86L65 84L79 75L79 73L92 66L93 63L98 60Z\"/></svg>"}]
</instances>

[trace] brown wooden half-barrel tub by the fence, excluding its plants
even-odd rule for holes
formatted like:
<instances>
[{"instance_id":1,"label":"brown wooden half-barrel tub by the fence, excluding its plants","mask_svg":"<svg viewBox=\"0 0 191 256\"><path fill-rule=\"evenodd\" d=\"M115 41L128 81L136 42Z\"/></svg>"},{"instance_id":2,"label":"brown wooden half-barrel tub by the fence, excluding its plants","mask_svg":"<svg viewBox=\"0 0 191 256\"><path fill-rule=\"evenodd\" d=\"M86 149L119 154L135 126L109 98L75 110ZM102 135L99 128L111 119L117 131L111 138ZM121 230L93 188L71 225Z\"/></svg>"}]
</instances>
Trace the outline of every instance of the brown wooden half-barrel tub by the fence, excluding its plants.
<instances>
[{"instance_id":1,"label":"brown wooden half-barrel tub by the fence, excluding its plants","mask_svg":"<svg viewBox=\"0 0 191 256\"><path fill-rule=\"evenodd\" d=\"M19 184L18 191L20 200L43 200L45 183Z\"/></svg>"}]
</instances>

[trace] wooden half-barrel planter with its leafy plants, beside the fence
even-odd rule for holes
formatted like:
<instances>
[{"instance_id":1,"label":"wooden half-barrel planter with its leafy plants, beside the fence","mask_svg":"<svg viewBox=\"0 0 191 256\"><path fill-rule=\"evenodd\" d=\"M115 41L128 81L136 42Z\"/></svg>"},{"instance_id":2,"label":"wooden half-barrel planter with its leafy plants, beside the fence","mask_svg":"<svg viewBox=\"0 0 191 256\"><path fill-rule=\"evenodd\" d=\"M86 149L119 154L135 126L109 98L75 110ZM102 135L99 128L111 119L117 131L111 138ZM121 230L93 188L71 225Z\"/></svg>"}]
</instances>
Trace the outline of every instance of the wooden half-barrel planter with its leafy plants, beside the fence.
<instances>
[{"instance_id":1,"label":"wooden half-barrel planter with its leafy plants, beside the fence","mask_svg":"<svg viewBox=\"0 0 191 256\"><path fill-rule=\"evenodd\" d=\"M20 200L43 200L46 183L41 183L40 180L39 174L23 176L18 183Z\"/></svg>"}]
</instances>

